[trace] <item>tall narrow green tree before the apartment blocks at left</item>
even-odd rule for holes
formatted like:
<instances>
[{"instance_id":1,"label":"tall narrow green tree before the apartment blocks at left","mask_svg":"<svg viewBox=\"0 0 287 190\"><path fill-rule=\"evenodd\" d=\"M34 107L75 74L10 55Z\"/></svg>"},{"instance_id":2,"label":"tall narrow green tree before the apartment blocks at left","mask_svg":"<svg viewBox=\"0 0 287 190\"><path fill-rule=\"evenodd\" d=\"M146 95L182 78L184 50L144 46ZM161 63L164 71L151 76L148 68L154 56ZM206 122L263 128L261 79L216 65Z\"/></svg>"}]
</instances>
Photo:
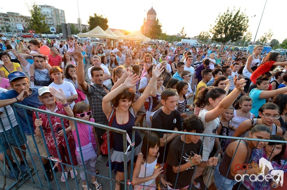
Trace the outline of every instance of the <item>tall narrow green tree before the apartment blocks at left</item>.
<instances>
[{"instance_id":1,"label":"tall narrow green tree before the apartment blocks at left","mask_svg":"<svg viewBox=\"0 0 287 190\"><path fill-rule=\"evenodd\" d=\"M33 4L32 7L28 7L31 14L31 18L25 19L28 23L30 30L36 30L37 33L42 34L44 31L49 30L49 26L46 23L45 16L41 13L38 5Z\"/></svg>"}]
</instances>

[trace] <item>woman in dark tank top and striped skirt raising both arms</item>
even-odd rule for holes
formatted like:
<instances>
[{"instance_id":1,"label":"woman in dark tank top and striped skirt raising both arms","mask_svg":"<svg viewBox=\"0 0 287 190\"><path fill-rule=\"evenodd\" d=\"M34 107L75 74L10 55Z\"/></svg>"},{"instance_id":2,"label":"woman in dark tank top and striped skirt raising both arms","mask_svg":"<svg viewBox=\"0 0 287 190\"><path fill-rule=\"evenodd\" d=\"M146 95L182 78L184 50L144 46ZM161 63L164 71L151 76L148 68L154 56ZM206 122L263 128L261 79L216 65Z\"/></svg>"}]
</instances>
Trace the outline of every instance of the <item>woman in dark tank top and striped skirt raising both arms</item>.
<instances>
[{"instance_id":1,"label":"woman in dark tank top and striped skirt raising both arms","mask_svg":"<svg viewBox=\"0 0 287 190\"><path fill-rule=\"evenodd\" d=\"M117 88L112 90L103 98L103 112L106 115L109 125L115 128L123 129L127 131L127 135L132 138L132 126L135 124L135 116L139 109L144 105L145 100L151 93L152 89L156 86L156 80L163 72L163 68L152 70L152 78L144 90L142 96L136 101L132 102L135 93L131 89L139 80L136 74L129 74L123 84L120 84ZM121 82L120 80L118 82ZM115 84L116 85L116 84ZM113 102L113 106L110 102ZM123 135L114 133L115 142L123 142ZM128 143L128 142L127 142ZM141 151L142 140L141 136L136 131L135 133L135 160ZM131 150L127 150L127 161L131 160ZM113 151L111 155L111 168L116 173L116 190L120 189L120 181L124 180L124 152L123 144L114 143ZM108 164L107 164L108 165Z\"/></svg>"}]
</instances>

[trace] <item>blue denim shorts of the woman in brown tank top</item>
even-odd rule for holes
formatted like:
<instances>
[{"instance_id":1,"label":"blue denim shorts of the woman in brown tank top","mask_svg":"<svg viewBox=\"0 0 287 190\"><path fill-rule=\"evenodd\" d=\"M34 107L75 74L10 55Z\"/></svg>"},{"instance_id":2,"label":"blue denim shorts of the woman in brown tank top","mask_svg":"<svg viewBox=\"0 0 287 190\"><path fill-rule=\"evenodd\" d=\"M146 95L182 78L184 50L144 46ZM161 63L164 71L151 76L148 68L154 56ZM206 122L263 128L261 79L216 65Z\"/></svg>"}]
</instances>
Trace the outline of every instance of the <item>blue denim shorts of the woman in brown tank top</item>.
<instances>
[{"instance_id":1,"label":"blue denim shorts of the woman in brown tank top","mask_svg":"<svg viewBox=\"0 0 287 190\"><path fill-rule=\"evenodd\" d=\"M237 183L235 180L225 179L225 176L219 173L219 164L216 166L213 175L214 184L218 190L232 190L233 186Z\"/></svg>"}]
</instances>

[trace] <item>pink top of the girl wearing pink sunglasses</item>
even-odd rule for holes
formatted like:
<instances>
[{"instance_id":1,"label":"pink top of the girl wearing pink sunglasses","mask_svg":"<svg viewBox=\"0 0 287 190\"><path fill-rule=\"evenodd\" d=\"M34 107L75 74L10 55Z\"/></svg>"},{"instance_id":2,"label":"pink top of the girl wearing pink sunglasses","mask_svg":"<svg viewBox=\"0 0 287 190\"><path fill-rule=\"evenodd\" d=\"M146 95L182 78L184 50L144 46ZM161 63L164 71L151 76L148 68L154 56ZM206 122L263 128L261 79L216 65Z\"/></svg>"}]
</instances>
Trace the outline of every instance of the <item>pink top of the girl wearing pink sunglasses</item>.
<instances>
[{"instance_id":1,"label":"pink top of the girl wearing pink sunglasses","mask_svg":"<svg viewBox=\"0 0 287 190\"><path fill-rule=\"evenodd\" d=\"M94 118L91 118L89 121L90 122L95 122ZM88 127L91 128L91 142L93 144L93 147L96 148L97 147L97 143L96 143L96 139L95 139L94 134L93 134L93 127L89 126L89 125L86 125L86 124L83 124L83 123L77 123L77 128L78 128L78 133L79 133L81 146L85 146L85 145L87 145L89 143ZM77 146L77 145L79 145L78 138L77 138L77 132L75 130L75 131L72 131L72 133L73 133L74 140L75 140L76 146ZM76 155L79 155L77 150L76 150Z\"/></svg>"}]
</instances>

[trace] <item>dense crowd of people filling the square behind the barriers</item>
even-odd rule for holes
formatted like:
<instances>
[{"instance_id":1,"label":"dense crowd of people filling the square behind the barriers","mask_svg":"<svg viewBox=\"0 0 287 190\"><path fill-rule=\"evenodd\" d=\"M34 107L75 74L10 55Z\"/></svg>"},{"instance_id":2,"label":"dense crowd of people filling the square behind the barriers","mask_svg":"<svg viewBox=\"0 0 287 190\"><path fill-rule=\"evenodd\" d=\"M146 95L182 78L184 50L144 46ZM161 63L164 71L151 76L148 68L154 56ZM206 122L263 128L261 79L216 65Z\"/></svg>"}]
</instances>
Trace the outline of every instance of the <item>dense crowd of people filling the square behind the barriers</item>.
<instances>
[{"instance_id":1,"label":"dense crowd of people filling the square behind the barriers","mask_svg":"<svg viewBox=\"0 0 287 190\"><path fill-rule=\"evenodd\" d=\"M20 148L25 149L27 139L42 156L46 180L54 178L47 158L60 157L62 163L88 168L93 173L92 183L100 190L102 185L96 176L101 171L96 162L106 132L80 122L75 125L67 119L62 122L59 117L25 112L20 107L15 107L14 114L13 103L123 129L130 139L132 126L142 127L135 133L134 148L126 152L121 143L123 135L112 132L114 142L120 143L112 145L107 166L116 174L116 190L124 180L124 154L128 162L134 163L131 183L137 190L156 189L158 184L168 189L201 189L198 177L210 166L215 170L209 188L231 190L239 185L235 175L246 172L235 171L235 165L251 160L259 165L262 157L274 170L287 172L286 144L260 141L287 139L287 61L280 53L262 52L262 45L255 46L252 53L224 46L176 47L172 43L151 47L126 42L113 48L91 46L89 40L78 43L69 36L67 42L53 40L51 53L44 55L40 51L46 44L43 40L31 39L27 44L22 42L23 46L20 40L16 47L14 41L6 40L0 53L0 140L6 149L1 151L0 160L3 162L6 151L13 163L9 167L11 177L17 178L19 169L8 143L17 145L17 139ZM144 127L161 130L151 132ZM146 133L143 139L140 131ZM233 141L213 135L258 140ZM14 151L19 156L20 170L27 171L25 152L23 157L19 149ZM216 157L218 152L223 155L221 160ZM77 177L76 169L60 163L57 166L62 182L69 175ZM265 170L264 174L270 172ZM251 168L246 174L258 175ZM88 179L82 170L80 177L86 190ZM279 185L272 179L255 183L246 178L239 188L270 189Z\"/></svg>"}]
</instances>

